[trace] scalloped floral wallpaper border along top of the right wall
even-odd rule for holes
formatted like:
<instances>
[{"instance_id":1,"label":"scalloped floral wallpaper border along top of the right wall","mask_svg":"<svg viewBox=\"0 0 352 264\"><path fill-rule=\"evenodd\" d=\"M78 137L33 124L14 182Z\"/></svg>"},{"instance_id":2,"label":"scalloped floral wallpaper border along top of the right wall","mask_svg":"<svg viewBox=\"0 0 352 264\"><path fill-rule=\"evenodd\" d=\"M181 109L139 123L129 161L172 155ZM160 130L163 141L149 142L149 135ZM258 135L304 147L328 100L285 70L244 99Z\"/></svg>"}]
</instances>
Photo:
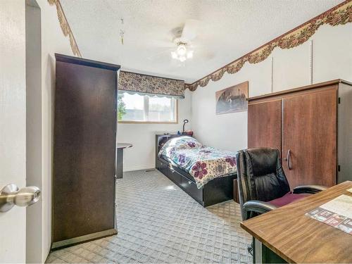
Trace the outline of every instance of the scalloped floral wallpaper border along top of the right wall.
<instances>
[{"instance_id":1,"label":"scalloped floral wallpaper border along top of the right wall","mask_svg":"<svg viewBox=\"0 0 352 264\"><path fill-rule=\"evenodd\" d=\"M224 73L234 74L239 72L246 62L259 63L260 61L264 61L276 47L281 49L291 49L295 46L301 45L312 37L321 25L329 24L336 26L351 22L352 0L347 0L337 6L334 6L325 13L308 20L308 22L294 28L293 30L282 34L267 44L260 46L258 49L251 51L249 54L246 54L241 58L232 61L232 63L215 70L215 72L206 75L206 77L203 77L192 84L184 84L184 89L189 89L192 92L196 91L198 87L205 87L210 80L213 82L220 80Z\"/></svg>"}]
</instances>

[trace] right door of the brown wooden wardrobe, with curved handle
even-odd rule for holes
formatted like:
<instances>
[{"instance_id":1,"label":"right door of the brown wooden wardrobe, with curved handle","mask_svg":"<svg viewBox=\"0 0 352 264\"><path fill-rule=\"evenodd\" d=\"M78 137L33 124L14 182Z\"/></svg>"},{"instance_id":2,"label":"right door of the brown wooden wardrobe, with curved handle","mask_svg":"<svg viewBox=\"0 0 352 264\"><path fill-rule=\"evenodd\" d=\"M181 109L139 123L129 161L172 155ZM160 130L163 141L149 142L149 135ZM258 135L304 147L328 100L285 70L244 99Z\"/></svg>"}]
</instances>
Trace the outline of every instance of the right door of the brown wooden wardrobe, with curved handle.
<instances>
[{"instance_id":1,"label":"right door of the brown wooden wardrobe, with curved handle","mask_svg":"<svg viewBox=\"0 0 352 264\"><path fill-rule=\"evenodd\" d=\"M283 99L282 156L291 188L336 184L337 87Z\"/></svg>"}]
</instances>

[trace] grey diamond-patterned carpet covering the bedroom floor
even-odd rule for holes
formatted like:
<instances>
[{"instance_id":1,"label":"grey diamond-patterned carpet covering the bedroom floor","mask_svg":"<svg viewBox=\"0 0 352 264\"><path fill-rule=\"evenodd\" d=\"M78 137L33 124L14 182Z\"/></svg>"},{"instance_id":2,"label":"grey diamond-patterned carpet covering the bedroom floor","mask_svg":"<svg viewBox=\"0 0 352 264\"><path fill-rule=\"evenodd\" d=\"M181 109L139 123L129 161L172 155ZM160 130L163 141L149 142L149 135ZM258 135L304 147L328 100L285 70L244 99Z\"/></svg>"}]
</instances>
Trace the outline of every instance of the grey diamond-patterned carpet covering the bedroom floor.
<instances>
[{"instance_id":1,"label":"grey diamond-patterned carpet covering the bedroom floor","mask_svg":"<svg viewBox=\"0 0 352 264\"><path fill-rule=\"evenodd\" d=\"M117 182L118 234L50 253L47 263L251 263L239 205L203 208L161 172Z\"/></svg>"}]
</instances>

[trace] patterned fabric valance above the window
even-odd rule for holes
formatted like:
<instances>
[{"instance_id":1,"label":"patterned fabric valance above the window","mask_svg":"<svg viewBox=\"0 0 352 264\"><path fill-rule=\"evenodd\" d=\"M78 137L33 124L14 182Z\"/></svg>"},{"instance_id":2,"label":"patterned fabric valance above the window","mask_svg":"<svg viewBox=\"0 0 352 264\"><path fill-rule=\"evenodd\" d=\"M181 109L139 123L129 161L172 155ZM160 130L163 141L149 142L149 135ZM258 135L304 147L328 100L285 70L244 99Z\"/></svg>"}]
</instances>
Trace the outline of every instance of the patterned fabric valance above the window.
<instances>
[{"instance_id":1,"label":"patterned fabric valance above the window","mask_svg":"<svg viewBox=\"0 0 352 264\"><path fill-rule=\"evenodd\" d=\"M126 92L184 98L184 81L120 70L118 89Z\"/></svg>"}]
</instances>

